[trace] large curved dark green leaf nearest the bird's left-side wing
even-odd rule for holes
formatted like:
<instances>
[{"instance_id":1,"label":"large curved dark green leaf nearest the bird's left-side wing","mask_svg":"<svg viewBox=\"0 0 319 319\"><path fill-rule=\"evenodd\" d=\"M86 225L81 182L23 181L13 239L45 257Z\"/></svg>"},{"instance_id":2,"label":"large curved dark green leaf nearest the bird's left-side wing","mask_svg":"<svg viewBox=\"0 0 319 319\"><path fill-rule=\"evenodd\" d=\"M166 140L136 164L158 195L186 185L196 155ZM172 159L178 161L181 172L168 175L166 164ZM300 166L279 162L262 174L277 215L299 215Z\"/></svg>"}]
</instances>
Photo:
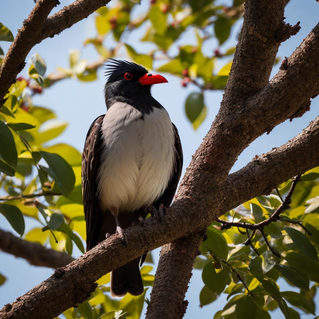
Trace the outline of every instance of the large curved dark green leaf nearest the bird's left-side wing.
<instances>
[{"instance_id":1,"label":"large curved dark green leaf nearest the bird's left-side wing","mask_svg":"<svg viewBox=\"0 0 319 319\"><path fill-rule=\"evenodd\" d=\"M39 152L47 162L48 167L42 167L55 181L64 195L68 195L74 188L75 175L72 167L63 157L55 153Z\"/></svg>"}]
</instances>

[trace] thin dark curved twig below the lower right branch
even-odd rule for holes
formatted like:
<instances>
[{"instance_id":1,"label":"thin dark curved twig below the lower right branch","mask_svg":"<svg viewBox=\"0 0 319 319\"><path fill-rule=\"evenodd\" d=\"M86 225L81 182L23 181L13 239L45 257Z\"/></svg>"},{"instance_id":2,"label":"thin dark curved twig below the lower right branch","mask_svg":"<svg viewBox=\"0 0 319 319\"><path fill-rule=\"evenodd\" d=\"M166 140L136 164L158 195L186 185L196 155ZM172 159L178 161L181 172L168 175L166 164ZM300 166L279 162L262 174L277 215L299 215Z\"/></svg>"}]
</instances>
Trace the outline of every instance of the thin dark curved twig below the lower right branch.
<instances>
[{"instance_id":1,"label":"thin dark curved twig below the lower right branch","mask_svg":"<svg viewBox=\"0 0 319 319\"><path fill-rule=\"evenodd\" d=\"M289 205L291 203L291 197L293 195L293 191L295 190L296 188L296 185L297 183L299 182L300 180L300 175L297 175L295 176L292 180L292 184L290 186L290 189L289 189L289 192L285 198L285 200L282 202L282 204L276 209L276 211L274 211L271 216L265 220L263 220L262 222L258 223L258 224L249 224L249 223L241 223L241 222L230 222L230 221L227 221L227 220L224 220L224 219L220 219L220 218L217 218L216 221L223 224L221 226L221 230L223 229L228 229L230 228L231 226L235 226L235 227L241 227L241 228L248 228L248 229L251 229L251 230L254 230L254 229L259 229L259 230L262 230L263 227L269 225L271 222L273 221L277 221L279 218L280 218L280 214L285 211L286 209L289 208Z\"/></svg>"}]
</instances>

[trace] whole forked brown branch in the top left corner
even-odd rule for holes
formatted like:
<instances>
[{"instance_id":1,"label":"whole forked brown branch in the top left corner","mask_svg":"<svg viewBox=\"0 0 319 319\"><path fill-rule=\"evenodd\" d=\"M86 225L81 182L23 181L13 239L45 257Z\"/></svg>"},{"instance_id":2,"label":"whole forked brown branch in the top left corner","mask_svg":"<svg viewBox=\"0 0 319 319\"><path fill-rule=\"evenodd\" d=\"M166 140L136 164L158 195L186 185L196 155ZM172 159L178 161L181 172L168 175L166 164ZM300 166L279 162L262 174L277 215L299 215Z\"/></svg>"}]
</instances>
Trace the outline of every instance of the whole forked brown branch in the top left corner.
<instances>
[{"instance_id":1,"label":"whole forked brown branch in the top left corner","mask_svg":"<svg viewBox=\"0 0 319 319\"><path fill-rule=\"evenodd\" d=\"M77 0L48 17L57 0L38 0L28 19L23 22L0 69L0 100L3 99L18 73L25 66L29 51L42 40L61 33L87 18L110 0ZM48 17L48 18L47 18Z\"/></svg>"}]
</instances>

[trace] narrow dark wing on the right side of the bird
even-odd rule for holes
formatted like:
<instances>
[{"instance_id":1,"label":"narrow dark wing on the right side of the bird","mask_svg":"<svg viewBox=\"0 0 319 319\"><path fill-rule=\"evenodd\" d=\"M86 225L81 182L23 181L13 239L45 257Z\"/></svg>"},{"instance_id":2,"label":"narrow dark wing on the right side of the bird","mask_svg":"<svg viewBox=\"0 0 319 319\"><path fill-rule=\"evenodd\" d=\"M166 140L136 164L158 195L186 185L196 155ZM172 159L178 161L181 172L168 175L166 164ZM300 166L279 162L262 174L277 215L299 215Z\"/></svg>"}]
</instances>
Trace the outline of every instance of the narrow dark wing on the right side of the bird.
<instances>
[{"instance_id":1,"label":"narrow dark wing on the right side of the bird","mask_svg":"<svg viewBox=\"0 0 319 319\"><path fill-rule=\"evenodd\" d=\"M175 166L173 175L165 189L163 195L154 203L156 209L160 204L163 204L165 207L169 207L172 204L178 182L181 178L182 167L183 167L183 151L180 137L178 135L178 130L176 126L173 124L173 129L175 133L175 149L176 149L176 157L175 157Z\"/></svg>"}]
</instances>

